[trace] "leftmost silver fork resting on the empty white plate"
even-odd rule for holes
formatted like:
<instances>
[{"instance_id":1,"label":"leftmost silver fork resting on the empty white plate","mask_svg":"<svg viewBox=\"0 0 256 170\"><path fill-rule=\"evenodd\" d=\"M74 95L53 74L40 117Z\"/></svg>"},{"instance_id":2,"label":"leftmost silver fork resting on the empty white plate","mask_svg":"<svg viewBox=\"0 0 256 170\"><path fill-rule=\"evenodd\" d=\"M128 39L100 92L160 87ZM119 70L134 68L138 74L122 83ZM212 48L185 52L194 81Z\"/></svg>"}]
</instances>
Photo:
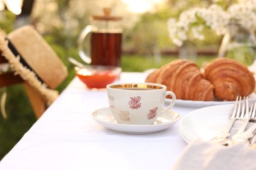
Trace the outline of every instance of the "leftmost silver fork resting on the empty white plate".
<instances>
[{"instance_id":1,"label":"leftmost silver fork resting on the empty white plate","mask_svg":"<svg viewBox=\"0 0 256 170\"><path fill-rule=\"evenodd\" d=\"M234 103L234 110L232 112L232 116L230 120L228 121L228 124L226 127L224 127L223 131L217 134L216 137L210 140L211 143L223 143L226 141L226 138L230 136L230 129L234 122L238 118L242 118L244 116L244 109L245 109L245 97L244 97L244 104L242 105L242 115L240 114L241 109L241 103L242 103L242 97L236 97L236 102Z\"/></svg>"}]
</instances>

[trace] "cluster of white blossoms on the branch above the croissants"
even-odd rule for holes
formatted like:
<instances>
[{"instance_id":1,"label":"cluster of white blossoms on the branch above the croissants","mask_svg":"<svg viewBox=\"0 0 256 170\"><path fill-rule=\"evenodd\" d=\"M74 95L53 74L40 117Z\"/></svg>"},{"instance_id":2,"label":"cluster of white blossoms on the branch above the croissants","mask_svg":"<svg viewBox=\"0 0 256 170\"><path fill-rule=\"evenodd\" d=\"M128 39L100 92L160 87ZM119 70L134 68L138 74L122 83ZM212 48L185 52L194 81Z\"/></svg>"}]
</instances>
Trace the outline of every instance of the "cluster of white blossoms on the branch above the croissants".
<instances>
[{"instance_id":1,"label":"cluster of white blossoms on the branch above the croissants","mask_svg":"<svg viewBox=\"0 0 256 170\"><path fill-rule=\"evenodd\" d=\"M217 4L208 8L184 10L177 20L170 18L167 25L173 43L182 46L189 38L203 40L204 27L209 27L216 35L224 35L231 23L240 24L248 31L255 31L256 0L240 1L226 10Z\"/></svg>"}]
</instances>

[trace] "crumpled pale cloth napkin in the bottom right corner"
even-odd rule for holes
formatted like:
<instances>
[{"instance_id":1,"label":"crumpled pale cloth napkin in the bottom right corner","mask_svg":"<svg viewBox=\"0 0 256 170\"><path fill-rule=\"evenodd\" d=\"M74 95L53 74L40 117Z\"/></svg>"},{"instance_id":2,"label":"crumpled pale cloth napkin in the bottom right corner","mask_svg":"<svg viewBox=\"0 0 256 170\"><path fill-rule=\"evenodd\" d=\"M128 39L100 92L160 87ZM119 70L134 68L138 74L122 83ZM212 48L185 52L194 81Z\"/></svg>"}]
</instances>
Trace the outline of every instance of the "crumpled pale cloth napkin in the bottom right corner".
<instances>
[{"instance_id":1,"label":"crumpled pale cloth napkin in the bottom right corner","mask_svg":"<svg viewBox=\"0 0 256 170\"><path fill-rule=\"evenodd\" d=\"M232 170L256 169L256 150L248 144L239 143L232 146L193 141L182 151L175 161L173 170L207 169L207 170Z\"/></svg>"}]
</instances>

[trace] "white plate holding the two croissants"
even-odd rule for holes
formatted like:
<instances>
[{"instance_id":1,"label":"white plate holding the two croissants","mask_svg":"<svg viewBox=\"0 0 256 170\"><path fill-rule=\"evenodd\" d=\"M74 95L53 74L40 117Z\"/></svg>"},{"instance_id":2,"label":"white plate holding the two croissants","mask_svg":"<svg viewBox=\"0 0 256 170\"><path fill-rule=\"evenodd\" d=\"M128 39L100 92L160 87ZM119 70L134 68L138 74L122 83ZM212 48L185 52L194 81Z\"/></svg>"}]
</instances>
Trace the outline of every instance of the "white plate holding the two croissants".
<instances>
[{"instance_id":1,"label":"white plate holding the two croissants","mask_svg":"<svg viewBox=\"0 0 256 170\"><path fill-rule=\"evenodd\" d=\"M248 98L253 99L256 97L255 93L251 93ZM167 99L168 100L168 99ZM171 101L171 99L169 99ZM181 107L192 107L192 108L202 108L202 107L210 107L215 105L228 105L234 104L235 101L192 101L192 100L181 100L177 99L175 102L175 106Z\"/></svg>"}]
</instances>

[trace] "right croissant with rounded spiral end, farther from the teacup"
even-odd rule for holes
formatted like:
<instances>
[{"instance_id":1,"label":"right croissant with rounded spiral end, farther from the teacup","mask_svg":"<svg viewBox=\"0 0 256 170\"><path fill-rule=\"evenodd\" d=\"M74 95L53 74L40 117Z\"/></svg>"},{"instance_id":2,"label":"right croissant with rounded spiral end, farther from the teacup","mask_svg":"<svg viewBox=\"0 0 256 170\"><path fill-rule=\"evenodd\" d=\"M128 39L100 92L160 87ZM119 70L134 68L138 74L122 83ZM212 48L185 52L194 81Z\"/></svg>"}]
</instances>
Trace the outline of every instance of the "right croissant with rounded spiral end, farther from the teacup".
<instances>
[{"instance_id":1,"label":"right croissant with rounded spiral end, farther from the teacup","mask_svg":"<svg viewBox=\"0 0 256 170\"><path fill-rule=\"evenodd\" d=\"M213 84L215 97L220 100L234 101L236 96L247 96L255 88L253 73L234 59L213 59L203 75Z\"/></svg>"}]
</instances>

